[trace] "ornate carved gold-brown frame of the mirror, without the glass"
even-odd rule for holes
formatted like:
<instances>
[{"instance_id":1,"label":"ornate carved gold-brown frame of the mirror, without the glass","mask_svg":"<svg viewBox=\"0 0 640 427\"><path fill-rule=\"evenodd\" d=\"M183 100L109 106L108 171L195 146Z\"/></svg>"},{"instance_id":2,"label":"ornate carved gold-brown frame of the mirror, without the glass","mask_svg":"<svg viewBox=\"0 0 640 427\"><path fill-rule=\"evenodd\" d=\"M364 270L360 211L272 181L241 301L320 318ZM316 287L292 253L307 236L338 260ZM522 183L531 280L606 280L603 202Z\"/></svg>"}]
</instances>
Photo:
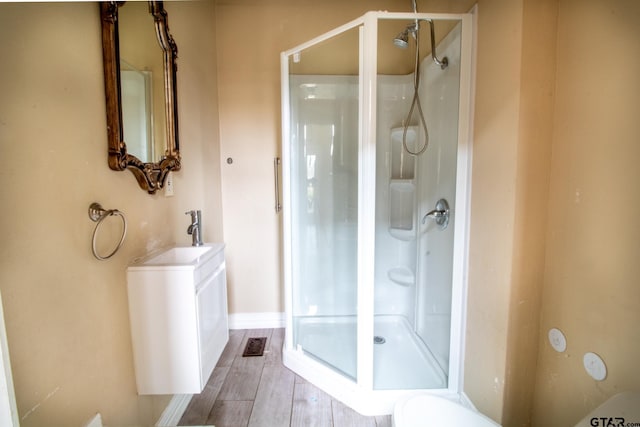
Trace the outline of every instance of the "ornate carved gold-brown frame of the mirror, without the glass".
<instances>
[{"instance_id":1,"label":"ornate carved gold-brown frame of the mirror, without the glass","mask_svg":"<svg viewBox=\"0 0 640 427\"><path fill-rule=\"evenodd\" d=\"M164 10L162 1L149 1L149 13L153 16L158 43L164 57L166 151L160 161L145 163L127 152L123 136L118 8L124 3L124 1L100 2L107 106L108 163L109 168L115 171L129 169L136 177L140 187L149 194L154 194L164 186L169 172L178 171L181 167L176 88L178 47L169 33L167 12Z\"/></svg>"}]
</instances>

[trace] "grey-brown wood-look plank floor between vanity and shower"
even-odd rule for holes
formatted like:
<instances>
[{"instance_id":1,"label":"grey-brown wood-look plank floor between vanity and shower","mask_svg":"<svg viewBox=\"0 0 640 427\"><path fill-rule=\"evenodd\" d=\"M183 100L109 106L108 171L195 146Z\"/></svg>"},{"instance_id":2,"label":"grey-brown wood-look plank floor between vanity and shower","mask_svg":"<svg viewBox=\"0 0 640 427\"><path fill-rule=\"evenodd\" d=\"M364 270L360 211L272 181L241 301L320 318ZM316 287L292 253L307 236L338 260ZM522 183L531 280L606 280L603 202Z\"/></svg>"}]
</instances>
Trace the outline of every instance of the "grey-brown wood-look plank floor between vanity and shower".
<instances>
[{"instance_id":1,"label":"grey-brown wood-look plank floor between vanity and shower","mask_svg":"<svg viewBox=\"0 0 640 427\"><path fill-rule=\"evenodd\" d=\"M242 357L252 337L267 337L264 355ZM390 415L360 415L287 369L283 340L284 329L229 331L229 343L209 382L193 396L178 425L391 427Z\"/></svg>"}]
</instances>

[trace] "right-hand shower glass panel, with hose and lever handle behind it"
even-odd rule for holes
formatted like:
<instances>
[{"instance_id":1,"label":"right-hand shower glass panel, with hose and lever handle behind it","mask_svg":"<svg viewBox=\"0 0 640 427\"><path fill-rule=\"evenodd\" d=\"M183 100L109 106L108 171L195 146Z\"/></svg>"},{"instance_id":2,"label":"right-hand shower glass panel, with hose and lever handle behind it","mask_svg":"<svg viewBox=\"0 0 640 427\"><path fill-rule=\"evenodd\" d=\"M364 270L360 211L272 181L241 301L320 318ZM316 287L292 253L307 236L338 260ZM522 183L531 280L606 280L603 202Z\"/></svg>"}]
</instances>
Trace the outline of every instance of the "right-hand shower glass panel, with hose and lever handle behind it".
<instances>
[{"instance_id":1,"label":"right-hand shower glass panel, with hose and lever handle behind it","mask_svg":"<svg viewBox=\"0 0 640 427\"><path fill-rule=\"evenodd\" d=\"M462 25L433 23L442 69L428 21L405 48L393 43L415 23L378 21L373 385L385 390L443 389L449 377ZM423 221L441 198L444 229Z\"/></svg>"}]
</instances>

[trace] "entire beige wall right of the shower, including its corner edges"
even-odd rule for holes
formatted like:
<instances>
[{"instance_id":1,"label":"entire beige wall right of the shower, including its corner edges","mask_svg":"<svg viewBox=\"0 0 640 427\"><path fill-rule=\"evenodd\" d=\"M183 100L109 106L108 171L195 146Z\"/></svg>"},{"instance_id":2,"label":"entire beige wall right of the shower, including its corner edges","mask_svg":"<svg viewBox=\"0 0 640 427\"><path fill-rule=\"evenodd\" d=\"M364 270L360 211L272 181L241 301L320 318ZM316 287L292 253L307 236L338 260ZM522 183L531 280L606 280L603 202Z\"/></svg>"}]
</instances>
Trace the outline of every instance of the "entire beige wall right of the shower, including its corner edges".
<instances>
[{"instance_id":1,"label":"entire beige wall right of the shower, including its corner edges","mask_svg":"<svg viewBox=\"0 0 640 427\"><path fill-rule=\"evenodd\" d=\"M632 0L479 1L465 391L505 426L573 425L640 387L639 18Z\"/></svg>"}]
</instances>

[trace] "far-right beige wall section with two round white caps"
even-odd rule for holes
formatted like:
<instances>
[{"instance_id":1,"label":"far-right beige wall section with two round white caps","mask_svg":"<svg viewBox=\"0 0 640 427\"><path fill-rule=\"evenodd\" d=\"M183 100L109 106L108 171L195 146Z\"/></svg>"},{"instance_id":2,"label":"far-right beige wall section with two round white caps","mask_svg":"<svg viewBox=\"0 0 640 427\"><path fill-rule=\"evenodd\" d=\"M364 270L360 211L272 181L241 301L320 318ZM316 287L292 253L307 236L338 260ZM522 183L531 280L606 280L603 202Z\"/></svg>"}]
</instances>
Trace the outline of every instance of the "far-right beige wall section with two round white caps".
<instances>
[{"instance_id":1,"label":"far-right beige wall section with two round white caps","mask_svg":"<svg viewBox=\"0 0 640 427\"><path fill-rule=\"evenodd\" d=\"M535 426L573 425L640 389L638 22L635 0L559 2ZM565 353L548 344L552 327ZM588 351L607 365L602 382L582 366Z\"/></svg>"}]
</instances>

